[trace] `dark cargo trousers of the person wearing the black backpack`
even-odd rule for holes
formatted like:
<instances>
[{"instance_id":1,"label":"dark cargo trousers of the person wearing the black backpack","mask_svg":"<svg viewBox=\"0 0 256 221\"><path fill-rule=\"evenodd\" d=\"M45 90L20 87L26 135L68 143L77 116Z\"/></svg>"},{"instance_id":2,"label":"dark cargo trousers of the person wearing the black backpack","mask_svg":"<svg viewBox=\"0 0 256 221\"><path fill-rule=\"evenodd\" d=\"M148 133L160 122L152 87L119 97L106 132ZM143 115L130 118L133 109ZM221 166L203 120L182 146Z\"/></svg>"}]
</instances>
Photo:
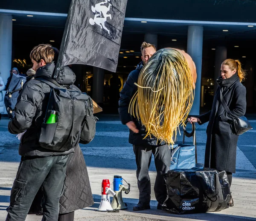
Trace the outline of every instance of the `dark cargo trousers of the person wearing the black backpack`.
<instances>
[{"instance_id":1,"label":"dark cargo trousers of the person wearing the black backpack","mask_svg":"<svg viewBox=\"0 0 256 221\"><path fill-rule=\"evenodd\" d=\"M22 157L13 183L6 221L24 221L38 189L42 186L42 221L57 221L59 199L64 187L68 155Z\"/></svg>"}]
</instances>

